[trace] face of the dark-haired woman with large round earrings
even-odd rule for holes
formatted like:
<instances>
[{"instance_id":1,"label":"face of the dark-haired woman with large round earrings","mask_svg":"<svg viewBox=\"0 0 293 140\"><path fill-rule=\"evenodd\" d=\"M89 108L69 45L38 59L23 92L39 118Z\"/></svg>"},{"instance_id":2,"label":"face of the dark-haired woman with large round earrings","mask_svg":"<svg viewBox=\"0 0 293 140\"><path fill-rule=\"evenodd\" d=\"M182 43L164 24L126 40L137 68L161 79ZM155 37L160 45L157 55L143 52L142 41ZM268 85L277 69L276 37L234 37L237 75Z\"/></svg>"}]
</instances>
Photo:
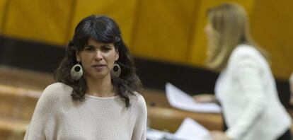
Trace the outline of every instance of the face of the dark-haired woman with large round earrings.
<instances>
[{"instance_id":1,"label":"face of the dark-haired woman with large round earrings","mask_svg":"<svg viewBox=\"0 0 293 140\"><path fill-rule=\"evenodd\" d=\"M86 78L105 78L110 76L114 62L119 58L113 43L102 43L88 39L87 45L76 55L81 62Z\"/></svg>"}]
</instances>

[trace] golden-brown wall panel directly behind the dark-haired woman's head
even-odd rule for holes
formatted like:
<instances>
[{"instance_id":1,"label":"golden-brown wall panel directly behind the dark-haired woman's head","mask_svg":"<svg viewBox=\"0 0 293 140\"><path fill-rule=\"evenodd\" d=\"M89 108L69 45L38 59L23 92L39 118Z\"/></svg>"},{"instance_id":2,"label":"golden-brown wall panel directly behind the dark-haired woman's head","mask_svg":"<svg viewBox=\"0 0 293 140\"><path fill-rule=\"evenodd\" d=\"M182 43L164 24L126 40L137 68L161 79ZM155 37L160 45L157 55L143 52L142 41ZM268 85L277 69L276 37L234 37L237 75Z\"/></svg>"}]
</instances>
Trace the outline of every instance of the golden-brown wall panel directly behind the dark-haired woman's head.
<instances>
[{"instance_id":1,"label":"golden-brown wall panel directly behind the dark-haired woman's head","mask_svg":"<svg viewBox=\"0 0 293 140\"><path fill-rule=\"evenodd\" d=\"M75 26L82 18L92 14L101 14L115 19L126 44L130 45L136 7L137 0L77 0L68 40L73 36Z\"/></svg>"}]
</instances>

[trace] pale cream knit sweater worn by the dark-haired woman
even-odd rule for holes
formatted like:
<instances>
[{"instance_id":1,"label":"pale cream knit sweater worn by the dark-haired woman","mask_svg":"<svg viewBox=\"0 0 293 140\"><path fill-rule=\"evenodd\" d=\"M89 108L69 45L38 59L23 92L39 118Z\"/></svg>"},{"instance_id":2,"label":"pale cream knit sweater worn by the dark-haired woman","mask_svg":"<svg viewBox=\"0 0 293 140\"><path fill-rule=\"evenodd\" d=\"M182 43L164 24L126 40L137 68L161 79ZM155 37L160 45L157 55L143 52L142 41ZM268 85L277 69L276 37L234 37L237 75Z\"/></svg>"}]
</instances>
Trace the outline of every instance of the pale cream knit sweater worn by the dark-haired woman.
<instances>
[{"instance_id":1,"label":"pale cream knit sweater worn by the dark-haired woman","mask_svg":"<svg viewBox=\"0 0 293 140\"><path fill-rule=\"evenodd\" d=\"M64 83L47 86L35 107L24 139L140 140L146 139L146 103L142 95L130 96L130 107L119 96L71 99Z\"/></svg>"}]
</instances>

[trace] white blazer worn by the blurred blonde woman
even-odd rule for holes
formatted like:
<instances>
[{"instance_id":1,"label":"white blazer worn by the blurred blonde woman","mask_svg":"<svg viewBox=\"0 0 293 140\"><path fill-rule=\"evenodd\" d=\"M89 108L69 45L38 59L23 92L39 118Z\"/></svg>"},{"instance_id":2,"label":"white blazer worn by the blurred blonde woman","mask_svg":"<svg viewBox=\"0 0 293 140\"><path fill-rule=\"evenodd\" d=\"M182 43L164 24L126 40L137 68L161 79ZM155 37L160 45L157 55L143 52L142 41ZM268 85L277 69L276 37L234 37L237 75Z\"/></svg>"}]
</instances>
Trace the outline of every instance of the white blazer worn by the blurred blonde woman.
<instances>
[{"instance_id":1,"label":"white blazer worn by the blurred blonde woman","mask_svg":"<svg viewBox=\"0 0 293 140\"><path fill-rule=\"evenodd\" d=\"M262 54L239 45L229 57L215 88L232 139L277 139L291 127L291 117L280 103L275 79Z\"/></svg>"}]
</instances>

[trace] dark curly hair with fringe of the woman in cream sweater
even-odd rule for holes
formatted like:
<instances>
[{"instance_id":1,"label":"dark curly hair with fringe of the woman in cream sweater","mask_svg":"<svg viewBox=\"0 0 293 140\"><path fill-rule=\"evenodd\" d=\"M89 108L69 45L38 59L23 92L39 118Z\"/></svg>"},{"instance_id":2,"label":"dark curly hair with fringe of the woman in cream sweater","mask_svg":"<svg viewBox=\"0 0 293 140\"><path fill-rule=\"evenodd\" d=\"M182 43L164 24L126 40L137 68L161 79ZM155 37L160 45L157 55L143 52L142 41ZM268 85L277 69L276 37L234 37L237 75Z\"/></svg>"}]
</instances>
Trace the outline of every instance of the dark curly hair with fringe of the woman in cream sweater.
<instances>
[{"instance_id":1,"label":"dark curly hair with fringe of the woman in cream sweater","mask_svg":"<svg viewBox=\"0 0 293 140\"><path fill-rule=\"evenodd\" d=\"M90 37L98 42L114 43L115 49L118 50L117 64L121 67L121 74L117 78L111 76L111 81L113 86L117 88L120 97L125 100L126 107L129 107L129 95L134 95L135 91L142 88L142 83L135 72L134 60L122 40L117 23L107 16L92 15L79 22L75 28L73 39L66 47L64 59L54 71L55 81L65 83L73 88L71 93L73 100L84 100L84 95L88 91L86 78L82 76L78 81L74 81L70 76L70 71L72 66L78 63L76 52L84 49Z\"/></svg>"}]
</instances>

